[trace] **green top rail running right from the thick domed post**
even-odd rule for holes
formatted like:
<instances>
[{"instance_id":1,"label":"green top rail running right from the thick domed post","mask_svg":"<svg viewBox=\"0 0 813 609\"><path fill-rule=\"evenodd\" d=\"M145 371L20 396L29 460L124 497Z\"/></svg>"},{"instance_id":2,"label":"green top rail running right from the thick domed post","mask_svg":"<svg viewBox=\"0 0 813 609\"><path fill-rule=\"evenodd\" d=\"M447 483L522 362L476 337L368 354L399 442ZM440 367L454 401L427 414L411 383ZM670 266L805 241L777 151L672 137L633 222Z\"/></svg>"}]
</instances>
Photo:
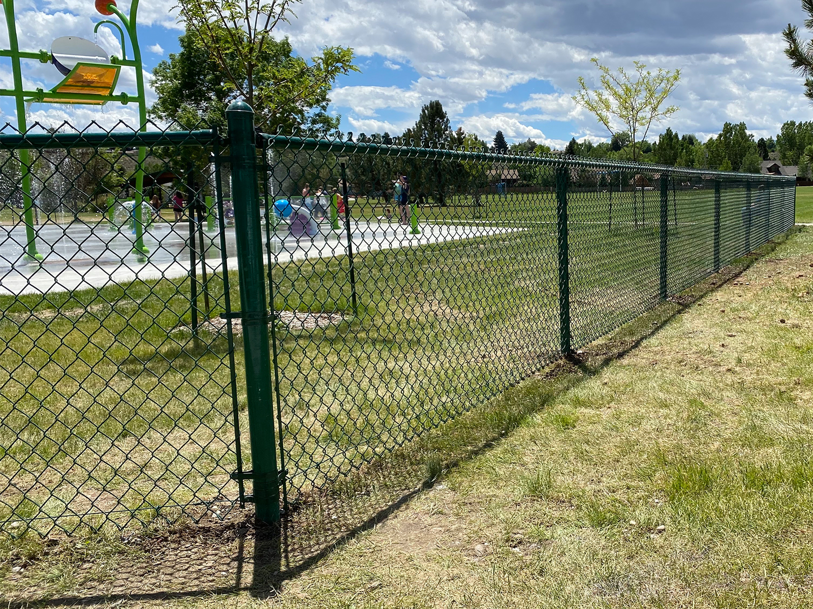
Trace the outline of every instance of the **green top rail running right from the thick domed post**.
<instances>
[{"instance_id":1,"label":"green top rail running right from the thick domed post","mask_svg":"<svg viewBox=\"0 0 813 609\"><path fill-rule=\"evenodd\" d=\"M467 162L499 162L513 165L533 166L571 166L589 167L593 170L605 168L609 171L638 171L646 173L670 172L683 175L703 175L713 178L740 178L759 176L766 179L790 180L795 179L788 175L746 174L739 171L720 171L717 169L695 169L692 167L677 167L671 165L658 165L655 163L641 163L628 161L612 161L600 158L574 157L566 154L537 156L533 153L496 153L482 152L472 149L456 149L435 146L415 146L393 144L379 144L375 142L354 142L350 140L328 139L320 137L280 136L267 133L258 134L260 142L275 149L295 149L302 151L318 150L337 155L342 154L368 154L370 156L389 156L398 158L419 158L426 161L467 161Z\"/></svg>"}]
</instances>

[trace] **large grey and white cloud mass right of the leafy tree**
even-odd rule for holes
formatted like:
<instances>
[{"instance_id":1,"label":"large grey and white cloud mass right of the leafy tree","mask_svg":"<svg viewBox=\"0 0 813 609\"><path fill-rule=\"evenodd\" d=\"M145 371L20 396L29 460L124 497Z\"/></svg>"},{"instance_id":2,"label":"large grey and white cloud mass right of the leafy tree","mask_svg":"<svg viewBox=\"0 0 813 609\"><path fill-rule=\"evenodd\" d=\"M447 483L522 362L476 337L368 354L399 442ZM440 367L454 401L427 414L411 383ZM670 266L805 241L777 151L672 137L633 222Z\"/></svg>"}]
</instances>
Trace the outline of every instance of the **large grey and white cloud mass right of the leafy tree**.
<instances>
[{"instance_id":1,"label":"large grey and white cloud mass right of the leafy tree","mask_svg":"<svg viewBox=\"0 0 813 609\"><path fill-rule=\"evenodd\" d=\"M416 0L410 11L375 0L312 0L298 15L288 32L303 53L330 40L406 61L420 75L400 89L342 88L333 102L348 116L380 117L440 99L453 123L466 124L472 105L544 80L556 93L512 100L506 110L603 137L570 99L577 76L597 82L589 58L598 56L611 67L638 59L680 68L674 101L681 111L669 124L681 131L717 132L725 121L744 120L758 134L775 134L785 119L813 119L778 33L801 23L798 0ZM396 22L398 36L370 36Z\"/></svg>"}]
</instances>

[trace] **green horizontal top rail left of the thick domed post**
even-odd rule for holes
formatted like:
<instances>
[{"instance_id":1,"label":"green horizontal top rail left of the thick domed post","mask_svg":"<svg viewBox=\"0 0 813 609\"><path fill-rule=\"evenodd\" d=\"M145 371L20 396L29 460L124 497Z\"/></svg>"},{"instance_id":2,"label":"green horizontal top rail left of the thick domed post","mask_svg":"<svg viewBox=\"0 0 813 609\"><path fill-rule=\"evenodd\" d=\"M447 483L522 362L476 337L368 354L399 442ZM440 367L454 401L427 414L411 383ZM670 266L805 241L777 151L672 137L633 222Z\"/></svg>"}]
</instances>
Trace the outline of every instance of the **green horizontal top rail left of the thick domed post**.
<instances>
[{"instance_id":1,"label":"green horizontal top rail left of the thick domed post","mask_svg":"<svg viewBox=\"0 0 813 609\"><path fill-rule=\"evenodd\" d=\"M215 129L155 132L0 133L0 149L199 146L217 139Z\"/></svg>"}]
</instances>

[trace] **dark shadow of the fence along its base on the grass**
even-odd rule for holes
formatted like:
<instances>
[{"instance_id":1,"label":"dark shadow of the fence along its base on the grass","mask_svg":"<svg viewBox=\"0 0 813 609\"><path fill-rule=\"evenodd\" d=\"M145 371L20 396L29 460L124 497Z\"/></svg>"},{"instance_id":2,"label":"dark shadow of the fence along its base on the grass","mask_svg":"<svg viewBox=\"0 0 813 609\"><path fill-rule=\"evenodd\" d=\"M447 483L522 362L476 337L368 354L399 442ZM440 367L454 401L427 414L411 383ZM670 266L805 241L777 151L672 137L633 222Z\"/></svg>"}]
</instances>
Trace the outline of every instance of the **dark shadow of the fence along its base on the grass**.
<instances>
[{"instance_id":1,"label":"dark shadow of the fence along its base on the grass","mask_svg":"<svg viewBox=\"0 0 813 609\"><path fill-rule=\"evenodd\" d=\"M106 581L85 585L80 594L59 597L31 591L25 598L10 599L8 607L65 607L238 592L273 598L284 581L398 512L444 472L493 447L528 415L637 348L672 317L736 279L786 239L773 240L606 338L511 387L489 404L380 456L328 492L307 497L294 506L279 528L254 527L252 514L246 510L233 511L224 521L143 535L133 538L137 554L118 560L115 573Z\"/></svg>"}]
</instances>

